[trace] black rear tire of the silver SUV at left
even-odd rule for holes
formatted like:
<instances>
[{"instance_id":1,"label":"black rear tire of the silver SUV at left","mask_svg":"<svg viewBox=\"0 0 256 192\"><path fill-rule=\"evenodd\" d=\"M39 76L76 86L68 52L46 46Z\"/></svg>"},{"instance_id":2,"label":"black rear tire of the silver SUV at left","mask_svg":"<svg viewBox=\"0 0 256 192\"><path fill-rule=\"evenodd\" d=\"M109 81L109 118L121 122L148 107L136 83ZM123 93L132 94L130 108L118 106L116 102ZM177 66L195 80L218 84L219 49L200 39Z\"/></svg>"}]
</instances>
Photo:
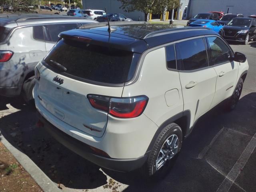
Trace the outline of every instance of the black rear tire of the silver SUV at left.
<instances>
[{"instance_id":1,"label":"black rear tire of the silver SUV at left","mask_svg":"<svg viewBox=\"0 0 256 192\"><path fill-rule=\"evenodd\" d=\"M25 100L27 104L33 104L34 98L33 98L33 88L35 86L36 79L35 76L32 76L28 78L24 83L22 87L22 97Z\"/></svg>"}]
</instances>

